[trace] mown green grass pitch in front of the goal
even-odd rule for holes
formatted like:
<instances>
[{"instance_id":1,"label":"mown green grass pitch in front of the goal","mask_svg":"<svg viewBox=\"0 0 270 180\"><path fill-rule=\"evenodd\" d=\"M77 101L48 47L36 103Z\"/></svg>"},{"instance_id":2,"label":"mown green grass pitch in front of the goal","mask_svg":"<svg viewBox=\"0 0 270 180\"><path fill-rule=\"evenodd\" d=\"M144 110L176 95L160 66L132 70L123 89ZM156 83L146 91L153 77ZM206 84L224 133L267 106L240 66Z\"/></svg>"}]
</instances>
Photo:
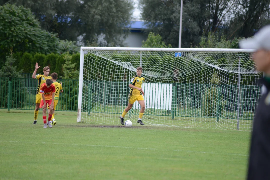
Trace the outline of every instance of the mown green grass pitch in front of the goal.
<instances>
[{"instance_id":1,"label":"mown green grass pitch in front of the goal","mask_svg":"<svg viewBox=\"0 0 270 180\"><path fill-rule=\"evenodd\" d=\"M41 111L39 111L41 112ZM0 110L0 179L245 179L250 132L76 123Z\"/></svg>"}]
</instances>

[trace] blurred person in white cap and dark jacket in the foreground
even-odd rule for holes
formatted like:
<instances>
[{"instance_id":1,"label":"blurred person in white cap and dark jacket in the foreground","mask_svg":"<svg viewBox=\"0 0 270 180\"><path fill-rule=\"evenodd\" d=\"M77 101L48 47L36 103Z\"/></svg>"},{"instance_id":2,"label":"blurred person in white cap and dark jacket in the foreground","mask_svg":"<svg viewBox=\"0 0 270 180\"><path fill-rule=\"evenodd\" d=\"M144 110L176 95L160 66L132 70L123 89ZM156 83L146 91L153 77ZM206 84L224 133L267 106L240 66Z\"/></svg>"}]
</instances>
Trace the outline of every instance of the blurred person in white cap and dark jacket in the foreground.
<instances>
[{"instance_id":1,"label":"blurred person in white cap and dark jacket in the foreground","mask_svg":"<svg viewBox=\"0 0 270 180\"><path fill-rule=\"evenodd\" d=\"M270 25L240 41L239 46L255 49L255 66L265 74L260 80L264 90L253 121L247 179L270 179Z\"/></svg>"}]
</instances>

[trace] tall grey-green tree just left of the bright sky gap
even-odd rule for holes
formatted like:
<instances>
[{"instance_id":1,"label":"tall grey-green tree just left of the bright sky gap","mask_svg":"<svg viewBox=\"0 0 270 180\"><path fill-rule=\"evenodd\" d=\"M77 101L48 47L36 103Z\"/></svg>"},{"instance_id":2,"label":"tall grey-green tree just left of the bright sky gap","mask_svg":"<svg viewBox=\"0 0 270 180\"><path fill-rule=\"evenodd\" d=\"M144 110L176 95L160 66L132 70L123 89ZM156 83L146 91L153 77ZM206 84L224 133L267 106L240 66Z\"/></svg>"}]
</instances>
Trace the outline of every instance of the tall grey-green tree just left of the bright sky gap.
<instances>
[{"instance_id":1,"label":"tall grey-green tree just left of the bright sky gap","mask_svg":"<svg viewBox=\"0 0 270 180\"><path fill-rule=\"evenodd\" d=\"M84 0L75 13L82 21L80 35L84 42L92 42L97 36L104 35L105 46L123 45L132 10L132 0Z\"/></svg>"}]
</instances>

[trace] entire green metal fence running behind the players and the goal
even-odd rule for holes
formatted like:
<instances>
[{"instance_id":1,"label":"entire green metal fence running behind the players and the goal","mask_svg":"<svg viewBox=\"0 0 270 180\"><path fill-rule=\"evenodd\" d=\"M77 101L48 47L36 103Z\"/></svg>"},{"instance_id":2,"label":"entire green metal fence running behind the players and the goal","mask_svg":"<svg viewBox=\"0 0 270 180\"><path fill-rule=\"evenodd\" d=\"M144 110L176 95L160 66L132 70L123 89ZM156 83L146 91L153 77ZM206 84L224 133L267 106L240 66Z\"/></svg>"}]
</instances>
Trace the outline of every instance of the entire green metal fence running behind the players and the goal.
<instances>
[{"instance_id":1,"label":"entire green metal fence running behind the players and the goal","mask_svg":"<svg viewBox=\"0 0 270 180\"><path fill-rule=\"evenodd\" d=\"M79 80L59 80L60 93L57 111L77 111ZM128 104L129 82L88 81L83 87L84 111L119 114ZM38 81L32 78L0 78L0 108L34 110ZM9 92L10 88L10 92ZM209 96L209 93L212 94ZM235 118L237 111L241 119L252 120L260 98L261 86L223 84L173 84L171 110L147 108L145 114L169 117ZM240 94L238 96L238 94ZM239 99L238 99L239 97ZM206 102L210 102L210 108ZM240 103L240 108L237 106ZM207 112L207 108L210 112ZM138 114L139 109L131 113Z\"/></svg>"}]
</instances>

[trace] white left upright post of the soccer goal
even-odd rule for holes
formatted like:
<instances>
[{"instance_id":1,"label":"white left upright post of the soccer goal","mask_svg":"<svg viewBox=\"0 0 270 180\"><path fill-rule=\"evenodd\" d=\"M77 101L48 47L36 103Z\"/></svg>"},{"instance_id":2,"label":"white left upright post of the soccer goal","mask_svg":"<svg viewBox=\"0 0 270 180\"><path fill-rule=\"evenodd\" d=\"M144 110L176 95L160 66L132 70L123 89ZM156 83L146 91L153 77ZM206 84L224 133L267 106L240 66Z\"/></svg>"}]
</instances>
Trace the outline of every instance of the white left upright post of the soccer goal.
<instances>
[{"instance_id":1,"label":"white left upright post of the soccer goal","mask_svg":"<svg viewBox=\"0 0 270 180\"><path fill-rule=\"evenodd\" d=\"M80 123L82 119L81 116L82 116L82 94L83 94L83 61L84 61L84 51L83 48L81 47L77 123Z\"/></svg>"}]
</instances>

